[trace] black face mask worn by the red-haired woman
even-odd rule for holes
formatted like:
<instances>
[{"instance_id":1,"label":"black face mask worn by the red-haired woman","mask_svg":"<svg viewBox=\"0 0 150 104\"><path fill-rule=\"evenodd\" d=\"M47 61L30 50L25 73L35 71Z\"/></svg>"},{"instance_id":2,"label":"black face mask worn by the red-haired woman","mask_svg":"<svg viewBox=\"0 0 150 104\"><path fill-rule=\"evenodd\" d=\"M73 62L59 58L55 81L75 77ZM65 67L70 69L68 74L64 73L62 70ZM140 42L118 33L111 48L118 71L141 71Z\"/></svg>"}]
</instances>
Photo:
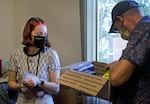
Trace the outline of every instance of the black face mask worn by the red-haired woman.
<instances>
[{"instance_id":1,"label":"black face mask worn by the red-haired woman","mask_svg":"<svg viewBox=\"0 0 150 104\"><path fill-rule=\"evenodd\" d=\"M47 37L46 36L34 36L34 45L37 48L43 48L46 44Z\"/></svg>"}]
</instances>

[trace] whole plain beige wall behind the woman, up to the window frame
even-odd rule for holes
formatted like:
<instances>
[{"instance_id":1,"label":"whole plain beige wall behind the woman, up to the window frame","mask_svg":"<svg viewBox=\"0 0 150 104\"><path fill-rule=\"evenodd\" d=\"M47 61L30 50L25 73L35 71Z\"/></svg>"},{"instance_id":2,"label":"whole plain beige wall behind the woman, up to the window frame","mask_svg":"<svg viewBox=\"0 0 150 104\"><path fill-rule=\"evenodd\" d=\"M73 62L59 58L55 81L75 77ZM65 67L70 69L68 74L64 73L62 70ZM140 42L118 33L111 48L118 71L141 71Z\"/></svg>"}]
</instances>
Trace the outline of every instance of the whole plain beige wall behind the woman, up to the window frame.
<instances>
[{"instance_id":1,"label":"whole plain beige wall behind the woman, up to the window frame","mask_svg":"<svg viewBox=\"0 0 150 104\"><path fill-rule=\"evenodd\" d=\"M0 58L9 59L20 46L25 22L39 16L48 23L49 40L61 65L81 61L79 0L1 0L0 8Z\"/></svg>"}]
</instances>

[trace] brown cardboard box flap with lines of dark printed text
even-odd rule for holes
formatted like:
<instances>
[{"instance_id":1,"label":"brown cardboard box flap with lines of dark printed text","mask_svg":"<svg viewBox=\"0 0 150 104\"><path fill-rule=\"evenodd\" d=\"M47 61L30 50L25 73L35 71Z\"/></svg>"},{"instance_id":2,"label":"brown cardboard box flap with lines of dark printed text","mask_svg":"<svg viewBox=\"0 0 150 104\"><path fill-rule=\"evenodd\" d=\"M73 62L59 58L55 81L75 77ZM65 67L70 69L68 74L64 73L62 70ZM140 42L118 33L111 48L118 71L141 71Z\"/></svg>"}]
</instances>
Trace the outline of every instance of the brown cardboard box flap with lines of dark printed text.
<instances>
[{"instance_id":1,"label":"brown cardboard box flap with lines of dark printed text","mask_svg":"<svg viewBox=\"0 0 150 104\"><path fill-rule=\"evenodd\" d=\"M59 83L89 95L97 96L107 79L74 70L66 70L59 78Z\"/></svg>"}]
</instances>

